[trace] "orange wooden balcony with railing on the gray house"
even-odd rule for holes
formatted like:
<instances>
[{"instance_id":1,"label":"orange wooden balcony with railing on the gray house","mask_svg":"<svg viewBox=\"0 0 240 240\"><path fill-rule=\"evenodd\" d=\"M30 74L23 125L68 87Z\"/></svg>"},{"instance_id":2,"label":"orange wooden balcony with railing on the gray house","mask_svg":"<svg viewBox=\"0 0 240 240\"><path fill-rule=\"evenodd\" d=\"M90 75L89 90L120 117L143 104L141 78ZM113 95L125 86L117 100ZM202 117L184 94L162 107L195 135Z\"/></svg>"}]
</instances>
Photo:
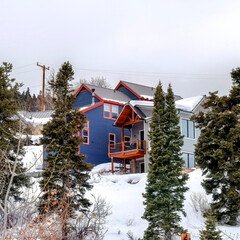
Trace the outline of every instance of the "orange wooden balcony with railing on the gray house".
<instances>
[{"instance_id":1,"label":"orange wooden balcony with railing on the gray house","mask_svg":"<svg viewBox=\"0 0 240 240\"><path fill-rule=\"evenodd\" d=\"M108 145L108 156L110 158L136 159L144 157L146 153L146 142L143 140L132 140Z\"/></svg>"}]
</instances>

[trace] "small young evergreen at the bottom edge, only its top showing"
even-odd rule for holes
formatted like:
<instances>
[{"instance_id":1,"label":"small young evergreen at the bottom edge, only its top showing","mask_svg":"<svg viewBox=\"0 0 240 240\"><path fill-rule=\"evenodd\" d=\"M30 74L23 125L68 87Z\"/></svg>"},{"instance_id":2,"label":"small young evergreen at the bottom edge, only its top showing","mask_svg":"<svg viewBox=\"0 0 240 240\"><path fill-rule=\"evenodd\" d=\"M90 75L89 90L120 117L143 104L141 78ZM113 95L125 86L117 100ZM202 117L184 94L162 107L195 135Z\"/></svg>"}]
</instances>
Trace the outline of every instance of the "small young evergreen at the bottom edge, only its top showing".
<instances>
[{"instance_id":1,"label":"small young evergreen at the bottom edge, only its top showing","mask_svg":"<svg viewBox=\"0 0 240 240\"><path fill-rule=\"evenodd\" d=\"M221 232L216 229L216 218L212 211L207 214L205 229L200 231L200 240L222 240Z\"/></svg>"}]
</instances>

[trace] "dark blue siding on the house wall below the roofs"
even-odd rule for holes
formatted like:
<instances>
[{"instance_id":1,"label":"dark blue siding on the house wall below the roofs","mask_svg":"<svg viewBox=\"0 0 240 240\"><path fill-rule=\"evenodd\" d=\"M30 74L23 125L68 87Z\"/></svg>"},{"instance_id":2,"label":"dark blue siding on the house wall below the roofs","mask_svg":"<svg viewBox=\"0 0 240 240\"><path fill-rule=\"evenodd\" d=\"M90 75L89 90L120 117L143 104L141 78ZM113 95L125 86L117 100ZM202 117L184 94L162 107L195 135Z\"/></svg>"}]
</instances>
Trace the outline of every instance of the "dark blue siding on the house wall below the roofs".
<instances>
[{"instance_id":1,"label":"dark blue siding on the house wall below the roofs","mask_svg":"<svg viewBox=\"0 0 240 240\"><path fill-rule=\"evenodd\" d=\"M119 112L122 110L119 106ZM82 144L80 153L87 155L86 162L98 165L110 162L108 157L108 134L116 134L116 142L121 142L121 128L114 127L114 120L103 118L103 105L85 113L89 120L89 145ZM125 130L130 136L130 131Z\"/></svg>"}]
</instances>

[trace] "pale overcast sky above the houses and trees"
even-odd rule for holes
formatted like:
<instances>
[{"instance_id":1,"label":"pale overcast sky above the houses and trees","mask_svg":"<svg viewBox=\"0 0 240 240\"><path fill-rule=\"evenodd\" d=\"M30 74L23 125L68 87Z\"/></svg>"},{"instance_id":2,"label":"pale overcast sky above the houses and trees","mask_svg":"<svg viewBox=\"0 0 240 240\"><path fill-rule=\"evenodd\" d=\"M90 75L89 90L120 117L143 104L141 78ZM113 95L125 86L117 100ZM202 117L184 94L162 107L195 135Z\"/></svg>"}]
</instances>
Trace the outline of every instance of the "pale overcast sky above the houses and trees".
<instances>
[{"instance_id":1,"label":"pale overcast sky above the houses and trees","mask_svg":"<svg viewBox=\"0 0 240 240\"><path fill-rule=\"evenodd\" d=\"M70 61L75 82L103 76L182 97L226 94L240 67L239 0L1 0L0 61L38 93ZM47 73L48 75L48 73Z\"/></svg>"}]
</instances>

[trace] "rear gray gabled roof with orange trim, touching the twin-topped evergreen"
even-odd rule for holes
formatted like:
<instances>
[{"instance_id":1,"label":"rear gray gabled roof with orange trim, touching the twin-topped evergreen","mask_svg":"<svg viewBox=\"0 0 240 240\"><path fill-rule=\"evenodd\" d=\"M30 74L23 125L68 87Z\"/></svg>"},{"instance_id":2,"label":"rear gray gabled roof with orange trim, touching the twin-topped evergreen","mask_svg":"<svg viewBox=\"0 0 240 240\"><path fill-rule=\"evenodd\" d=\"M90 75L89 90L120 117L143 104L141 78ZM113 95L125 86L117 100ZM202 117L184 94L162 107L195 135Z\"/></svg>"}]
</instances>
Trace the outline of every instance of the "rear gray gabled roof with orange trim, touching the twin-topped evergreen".
<instances>
[{"instance_id":1,"label":"rear gray gabled roof with orange trim, touching the twin-topped evergreen","mask_svg":"<svg viewBox=\"0 0 240 240\"><path fill-rule=\"evenodd\" d=\"M156 91L156 88L154 87L149 87L149 86L140 85L137 83L131 83L127 81L120 81L115 89L117 90L121 86L121 84L128 89L130 88L131 92L135 93L135 95L139 98L144 98L149 100L152 100L154 98L154 93ZM182 99L182 97L175 95L175 101L180 99Z\"/></svg>"}]
</instances>

